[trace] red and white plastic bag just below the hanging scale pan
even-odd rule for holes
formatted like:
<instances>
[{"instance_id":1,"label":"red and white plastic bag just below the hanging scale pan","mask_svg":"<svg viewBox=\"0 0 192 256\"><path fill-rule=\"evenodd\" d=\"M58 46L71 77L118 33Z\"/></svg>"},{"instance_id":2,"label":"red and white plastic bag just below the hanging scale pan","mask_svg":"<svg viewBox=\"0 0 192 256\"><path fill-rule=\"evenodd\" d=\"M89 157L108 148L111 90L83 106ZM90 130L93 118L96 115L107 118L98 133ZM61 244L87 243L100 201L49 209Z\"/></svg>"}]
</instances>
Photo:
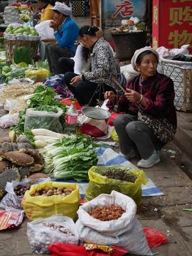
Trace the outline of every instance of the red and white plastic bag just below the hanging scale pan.
<instances>
[{"instance_id":1,"label":"red and white plastic bag just below the hanging scale pan","mask_svg":"<svg viewBox=\"0 0 192 256\"><path fill-rule=\"evenodd\" d=\"M108 133L108 127L105 120L92 118L88 118L85 124L82 124L79 129L83 134L87 134L92 137L102 137Z\"/></svg>"}]
</instances>

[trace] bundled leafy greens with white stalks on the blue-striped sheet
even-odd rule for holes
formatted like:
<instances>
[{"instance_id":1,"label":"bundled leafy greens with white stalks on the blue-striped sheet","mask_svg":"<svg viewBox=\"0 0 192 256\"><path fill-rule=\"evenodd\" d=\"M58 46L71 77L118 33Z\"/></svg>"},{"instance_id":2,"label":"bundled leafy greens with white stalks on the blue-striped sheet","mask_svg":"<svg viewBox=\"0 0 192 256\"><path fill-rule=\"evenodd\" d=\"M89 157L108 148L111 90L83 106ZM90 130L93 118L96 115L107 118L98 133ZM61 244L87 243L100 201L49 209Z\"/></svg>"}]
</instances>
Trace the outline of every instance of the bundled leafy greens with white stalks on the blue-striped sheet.
<instances>
[{"instance_id":1,"label":"bundled leafy greens with white stalks on the blue-striped sheet","mask_svg":"<svg viewBox=\"0 0 192 256\"><path fill-rule=\"evenodd\" d=\"M42 151L46 165L45 173L53 173L55 179L88 180L87 172L98 160L96 146L92 139L81 135L53 139L45 146L45 151Z\"/></svg>"}]
</instances>

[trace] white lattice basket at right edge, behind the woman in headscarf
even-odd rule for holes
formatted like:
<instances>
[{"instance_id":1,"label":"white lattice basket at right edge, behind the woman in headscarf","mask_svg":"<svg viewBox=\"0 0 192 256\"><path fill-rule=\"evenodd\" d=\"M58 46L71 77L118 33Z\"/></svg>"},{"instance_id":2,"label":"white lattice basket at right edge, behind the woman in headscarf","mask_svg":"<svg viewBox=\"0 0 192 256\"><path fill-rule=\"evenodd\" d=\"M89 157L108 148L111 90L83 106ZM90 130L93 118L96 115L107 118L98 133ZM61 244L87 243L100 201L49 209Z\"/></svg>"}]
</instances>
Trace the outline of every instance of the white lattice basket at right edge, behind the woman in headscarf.
<instances>
[{"instance_id":1,"label":"white lattice basket at right edge, behind the woman in headscarf","mask_svg":"<svg viewBox=\"0 0 192 256\"><path fill-rule=\"evenodd\" d=\"M161 68L174 81L174 105L176 110L192 112L192 63L172 58L174 55L161 56Z\"/></svg>"}]
</instances>

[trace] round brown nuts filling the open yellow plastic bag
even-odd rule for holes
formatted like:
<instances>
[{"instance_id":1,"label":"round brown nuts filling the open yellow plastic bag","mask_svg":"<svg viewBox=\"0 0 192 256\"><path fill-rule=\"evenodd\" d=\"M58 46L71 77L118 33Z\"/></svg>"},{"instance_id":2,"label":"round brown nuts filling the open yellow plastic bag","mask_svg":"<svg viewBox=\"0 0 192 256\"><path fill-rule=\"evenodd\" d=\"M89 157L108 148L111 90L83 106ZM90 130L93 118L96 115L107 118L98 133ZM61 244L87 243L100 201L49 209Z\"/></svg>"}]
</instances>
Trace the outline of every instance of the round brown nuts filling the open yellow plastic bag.
<instances>
[{"instance_id":1,"label":"round brown nuts filling the open yellow plastic bag","mask_svg":"<svg viewBox=\"0 0 192 256\"><path fill-rule=\"evenodd\" d=\"M37 188L36 192L31 196L68 196L73 192L73 188Z\"/></svg>"}]
</instances>

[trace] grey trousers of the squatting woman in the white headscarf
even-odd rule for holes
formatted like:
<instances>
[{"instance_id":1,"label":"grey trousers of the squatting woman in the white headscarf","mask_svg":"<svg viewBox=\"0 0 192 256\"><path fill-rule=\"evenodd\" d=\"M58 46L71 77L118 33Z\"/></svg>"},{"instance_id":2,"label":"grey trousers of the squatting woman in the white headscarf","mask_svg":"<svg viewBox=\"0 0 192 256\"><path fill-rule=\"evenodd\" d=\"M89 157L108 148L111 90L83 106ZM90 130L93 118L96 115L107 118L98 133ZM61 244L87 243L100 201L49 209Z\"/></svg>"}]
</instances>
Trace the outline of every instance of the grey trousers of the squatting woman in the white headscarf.
<instances>
[{"instance_id":1,"label":"grey trousers of the squatting woman in the white headscarf","mask_svg":"<svg viewBox=\"0 0 192 256\"><path fill-rule=\"evenodd\" d=\"M118 114L113 123L119 137L120 151L124 155L134 149L139 151L142 159L148 159L154 149L161 150L164 146L144 122L137 120L137 116Z\"/></svg>"}]
</instances>

